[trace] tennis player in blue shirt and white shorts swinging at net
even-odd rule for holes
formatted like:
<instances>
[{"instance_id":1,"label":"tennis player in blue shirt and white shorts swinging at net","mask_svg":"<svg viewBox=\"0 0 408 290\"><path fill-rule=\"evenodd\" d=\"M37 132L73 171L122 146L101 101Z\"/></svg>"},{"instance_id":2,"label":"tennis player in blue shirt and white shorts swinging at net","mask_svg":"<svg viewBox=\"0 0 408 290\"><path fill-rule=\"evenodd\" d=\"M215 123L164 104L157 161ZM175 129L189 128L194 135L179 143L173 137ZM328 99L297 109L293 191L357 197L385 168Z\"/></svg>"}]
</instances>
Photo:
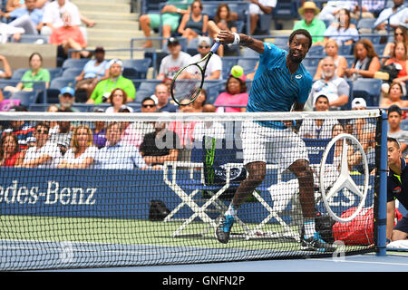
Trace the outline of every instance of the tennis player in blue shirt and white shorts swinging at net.
<instances>
[{"instance_id":1,"label":"tennis player in blue shirt and white shorts swinging at net","mask_svg":"<svg viewBox=\"0 0 408 290\"><path fill-rule=\"evenodd\" d=\"M257 73L249 92L247 111L303 110L312 86L312 76L302 64L312 45L312 37L306 30L299 29L290 34L288 52L246 34L221 31L217 38L220 43L238 43L260 54ZM238 208L265 179L267 156L271 155L278 160L281 168L290 169L299 182L305 223L301 248L319 252L335 250L316 233L313 171L309 167L306 145L292 131L292 125L291 121L244 122L241 137L248 175L240 183L227 212L220 219L216 230L219 242L228 243Z\"/></svg>"}]
</instances>

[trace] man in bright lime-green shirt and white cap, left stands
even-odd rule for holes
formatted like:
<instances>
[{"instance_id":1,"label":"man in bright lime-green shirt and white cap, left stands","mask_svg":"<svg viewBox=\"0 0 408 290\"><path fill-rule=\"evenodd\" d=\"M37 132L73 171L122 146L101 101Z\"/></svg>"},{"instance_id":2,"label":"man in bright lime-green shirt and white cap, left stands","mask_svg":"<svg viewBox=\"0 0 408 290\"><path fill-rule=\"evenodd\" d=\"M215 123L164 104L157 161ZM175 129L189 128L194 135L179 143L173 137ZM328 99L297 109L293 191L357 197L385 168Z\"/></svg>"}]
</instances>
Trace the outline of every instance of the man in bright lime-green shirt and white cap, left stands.
<instances>
[{"instance_id":1,"label":"man in bright lime-green shirt and white cap, left stands","mask_svg":"<svg viewBox=\"0 0 408 290\"><path fill-rule=\"evenodd\" d=\"M96 84L91 97L86 103L99 104L109 100L113 89L120 88L126 92L129 102L134 101L136 89L131 80L121 75L123 63L121 60L113 59L109 64L109 78Z\"/></svg>"}]
</instances>

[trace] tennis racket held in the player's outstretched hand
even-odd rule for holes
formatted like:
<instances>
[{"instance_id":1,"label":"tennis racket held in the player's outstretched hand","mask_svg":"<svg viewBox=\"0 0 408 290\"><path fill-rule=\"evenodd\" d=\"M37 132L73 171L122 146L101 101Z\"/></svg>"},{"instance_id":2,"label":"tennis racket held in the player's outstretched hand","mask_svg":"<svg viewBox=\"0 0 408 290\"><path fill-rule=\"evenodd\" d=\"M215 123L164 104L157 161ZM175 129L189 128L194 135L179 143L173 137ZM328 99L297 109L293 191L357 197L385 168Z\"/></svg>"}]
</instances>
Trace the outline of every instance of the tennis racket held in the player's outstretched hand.
<instances>
[{"instance_id":1,"label":"tennis racket held in the player's outstretched hand","mask_svg":"<svg viewBox=\"0 0 408 290\"><path fill-rule=\"evenodd\" d=\"M194 102L199 96L204 84L204 76L207 69L207 64L211 55L217 52L219 49L219 42L214 43L209 50L209 53L204 56L199 62L191 63L180 69L179 72L173 78L170 85L170 94L174 102L180 105L183 100L183 104L187 105Z\"/></svg>"}]
</instances>

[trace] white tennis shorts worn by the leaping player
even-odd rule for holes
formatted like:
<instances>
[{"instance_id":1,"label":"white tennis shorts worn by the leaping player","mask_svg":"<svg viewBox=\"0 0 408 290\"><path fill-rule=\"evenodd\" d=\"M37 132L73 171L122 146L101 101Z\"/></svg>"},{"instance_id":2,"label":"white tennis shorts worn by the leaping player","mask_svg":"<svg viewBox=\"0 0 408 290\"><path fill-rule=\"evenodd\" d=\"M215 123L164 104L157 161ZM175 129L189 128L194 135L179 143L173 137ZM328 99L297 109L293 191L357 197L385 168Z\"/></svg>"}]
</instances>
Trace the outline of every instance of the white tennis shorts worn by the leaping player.
<instances>
[{"instance_id":1,"label":"white tennis shorts worn by the leaping player","mask_svg":"<svg viewBox=\"0 0 408 290\"><path fill-rule=\"evenodd\" d=\"M263 161L287 169L296 160L309 160L305 142L290 128L280 130L245 121L241 138L244 164Z\"/></svg>"}]
</instances>

